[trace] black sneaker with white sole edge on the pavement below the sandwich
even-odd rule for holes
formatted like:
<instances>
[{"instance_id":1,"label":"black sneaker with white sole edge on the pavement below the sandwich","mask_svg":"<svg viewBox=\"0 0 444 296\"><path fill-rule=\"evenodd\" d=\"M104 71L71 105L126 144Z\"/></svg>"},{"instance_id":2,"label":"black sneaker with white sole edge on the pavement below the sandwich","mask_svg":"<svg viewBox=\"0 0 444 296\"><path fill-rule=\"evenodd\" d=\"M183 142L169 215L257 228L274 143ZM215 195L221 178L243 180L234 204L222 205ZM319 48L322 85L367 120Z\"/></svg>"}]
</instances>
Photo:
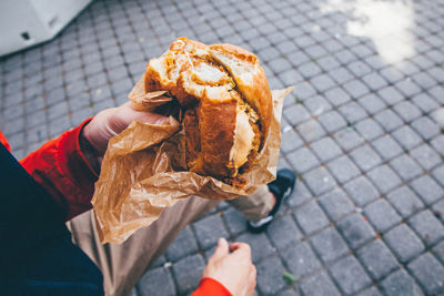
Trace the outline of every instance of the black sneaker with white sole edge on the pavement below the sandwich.
<instances>
[{"instance_id":1,"label":"black sneaker with white sole edge on the pavement below the sandwich","mask_svg":"<svg viewBox=\"0 0 444 296\"><path fill-rule=\"evenodd\" d=\"M296 183L296 176L294 173L287 169L283 169L278 171L276 180L266 184L271 193L276 197L276 203L271 210L270 214L266 217L261 218L255 222L246 222L249 231L252 233L261 233L265 231L266 226L273 221L274 216L281 208L282 202L289 197L293 190L294 184Z\"/></svg>"}]
</instances>

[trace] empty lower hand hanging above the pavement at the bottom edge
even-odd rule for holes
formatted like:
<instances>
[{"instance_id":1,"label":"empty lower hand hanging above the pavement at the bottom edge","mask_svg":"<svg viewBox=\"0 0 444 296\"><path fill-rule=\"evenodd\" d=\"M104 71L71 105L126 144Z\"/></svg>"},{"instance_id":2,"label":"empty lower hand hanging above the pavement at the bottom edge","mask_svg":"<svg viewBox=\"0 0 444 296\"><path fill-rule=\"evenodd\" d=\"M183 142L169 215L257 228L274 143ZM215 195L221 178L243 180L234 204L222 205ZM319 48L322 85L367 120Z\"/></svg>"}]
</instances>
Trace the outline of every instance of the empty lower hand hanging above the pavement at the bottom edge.
<instances>
[{"instance_id":1,"label":"empty lower hand hanging above the pavement at the bottom edge","mask_svg":"<svg viewBox=\"0 0 444 296\"><path fill-rule=\"evenodd\" d=\"M256 267L251 262L250 246L244 243L232 243L229 246L225 238L219 238L218 247L203 271L203 277L218 280L234 296L253 295Z\"/></svg>"}]
</instances>

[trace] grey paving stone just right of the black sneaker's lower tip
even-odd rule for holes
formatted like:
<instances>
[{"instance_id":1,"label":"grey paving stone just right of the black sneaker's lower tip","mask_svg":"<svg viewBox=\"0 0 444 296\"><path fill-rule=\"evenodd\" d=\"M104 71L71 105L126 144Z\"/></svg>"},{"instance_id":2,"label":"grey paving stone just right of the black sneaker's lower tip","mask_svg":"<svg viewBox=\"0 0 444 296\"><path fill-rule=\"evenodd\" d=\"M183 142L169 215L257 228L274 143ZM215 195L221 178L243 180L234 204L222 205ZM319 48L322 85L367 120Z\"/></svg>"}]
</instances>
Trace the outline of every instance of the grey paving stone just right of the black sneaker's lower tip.
<instances>
[{"instance_id":1,"label":"grey paving stone just right of the black sneaker's lower tip","mask_svg":"<svg viewBox=\"0 0 444 296\"><path fill-rule=\"evenodd\" d=\"M301 231L290 215L275 218L266 228L266 233L278 249L284 249L290 244L294 245L302 238Z\"/></svg>"}]
</instances>

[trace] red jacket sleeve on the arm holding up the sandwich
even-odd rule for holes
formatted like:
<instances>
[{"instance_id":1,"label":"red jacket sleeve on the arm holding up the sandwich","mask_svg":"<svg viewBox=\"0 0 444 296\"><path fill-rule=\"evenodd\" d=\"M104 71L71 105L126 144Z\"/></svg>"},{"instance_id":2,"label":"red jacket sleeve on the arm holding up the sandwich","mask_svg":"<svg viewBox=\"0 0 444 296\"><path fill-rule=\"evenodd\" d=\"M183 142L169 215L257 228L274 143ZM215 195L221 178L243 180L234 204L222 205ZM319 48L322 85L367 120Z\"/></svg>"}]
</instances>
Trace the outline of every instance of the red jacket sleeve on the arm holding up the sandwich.
<instances>
[{"instance_id":1,"label":"red jacket sleeve on the arm holding up the sandwich","mask_svg":"<svg viewBox=\"0 0 444 296\"><path fill-rule=\"evenodd\" d=\"M90 121L88 119L78 127L47 142L20 161L54 198L67 221L91 208L98 175L79 144L80 133Z\"/></svg>"}]
</instances>

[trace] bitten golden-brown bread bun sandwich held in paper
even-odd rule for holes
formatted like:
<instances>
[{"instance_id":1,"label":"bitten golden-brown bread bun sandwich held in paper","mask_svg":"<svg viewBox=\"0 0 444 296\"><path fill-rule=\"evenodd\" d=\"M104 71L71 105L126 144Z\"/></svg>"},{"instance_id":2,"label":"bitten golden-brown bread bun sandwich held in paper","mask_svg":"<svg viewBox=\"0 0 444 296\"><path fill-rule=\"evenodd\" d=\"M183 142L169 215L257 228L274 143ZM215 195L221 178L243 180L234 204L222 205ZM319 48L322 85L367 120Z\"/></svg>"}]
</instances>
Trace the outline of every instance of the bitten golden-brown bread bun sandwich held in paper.
<instances>
[{"instance_id":1,"label":"bitten golden-brown bread bun sandwich held in paper","mask_svg":"<svg viewBox=\"0 0 444 296\"><path fill-rule=\"evenodd\" d=\"M190 171L242 185L240 174L261 152L272 116L258 57L232 44L179 38L148 63L144 91L169 91L179 101Z\"/></svg>"}]
</instances>

